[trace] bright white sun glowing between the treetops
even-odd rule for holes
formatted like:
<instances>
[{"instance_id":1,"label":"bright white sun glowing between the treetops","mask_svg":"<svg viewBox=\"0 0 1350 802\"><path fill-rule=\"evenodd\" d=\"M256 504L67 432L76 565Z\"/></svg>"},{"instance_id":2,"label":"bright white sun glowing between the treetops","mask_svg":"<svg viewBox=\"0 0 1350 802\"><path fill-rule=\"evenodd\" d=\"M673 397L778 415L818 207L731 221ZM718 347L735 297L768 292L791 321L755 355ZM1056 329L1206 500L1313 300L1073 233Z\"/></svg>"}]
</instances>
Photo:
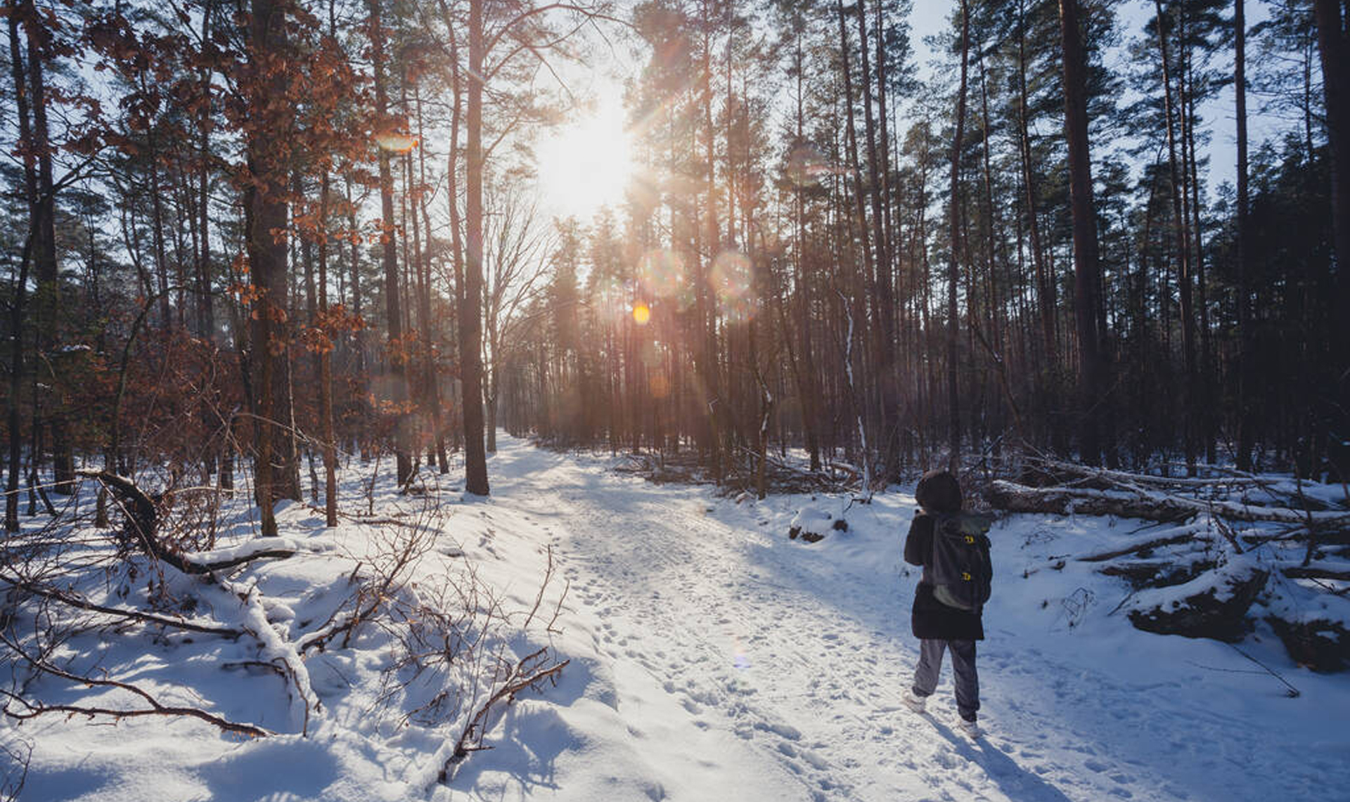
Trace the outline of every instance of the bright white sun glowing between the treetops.
<instances>
[{"instance_id":1,"label":"bright white sun glowing between the treetops","mask_svg":"<svg viewBox=\"0 0 1350 802\"><path fill-rule=\"evenodd\" d=\"M618 207L633 171L622 107L602 99L545 136L536 157L543 205L554 213L586 220L601 207Z\"/></svg>"}]
</instances>

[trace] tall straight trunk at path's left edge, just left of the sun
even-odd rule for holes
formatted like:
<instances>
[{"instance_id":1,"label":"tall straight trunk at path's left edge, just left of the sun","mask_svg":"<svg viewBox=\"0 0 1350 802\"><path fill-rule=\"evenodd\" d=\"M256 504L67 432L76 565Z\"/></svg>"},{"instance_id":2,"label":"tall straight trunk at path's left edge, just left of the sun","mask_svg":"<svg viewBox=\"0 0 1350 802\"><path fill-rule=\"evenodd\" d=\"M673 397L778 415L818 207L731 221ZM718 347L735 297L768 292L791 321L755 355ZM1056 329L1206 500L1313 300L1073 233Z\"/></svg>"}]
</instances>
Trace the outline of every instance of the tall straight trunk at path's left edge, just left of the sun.
<instances>
[{"instance_id":1,"label":"tall straight trunk at path's left edge, just left of the sun","mask_svg":"<svg viewBox=\"0 0 1350 802\"><path fill-rule=\"evenodd\" d=\"M467 259L459 296L459 365L464 413L464 490L487 496L483 450L483 0L468 0L468 108L464 228Z\"/></svg>"}]
</instances>

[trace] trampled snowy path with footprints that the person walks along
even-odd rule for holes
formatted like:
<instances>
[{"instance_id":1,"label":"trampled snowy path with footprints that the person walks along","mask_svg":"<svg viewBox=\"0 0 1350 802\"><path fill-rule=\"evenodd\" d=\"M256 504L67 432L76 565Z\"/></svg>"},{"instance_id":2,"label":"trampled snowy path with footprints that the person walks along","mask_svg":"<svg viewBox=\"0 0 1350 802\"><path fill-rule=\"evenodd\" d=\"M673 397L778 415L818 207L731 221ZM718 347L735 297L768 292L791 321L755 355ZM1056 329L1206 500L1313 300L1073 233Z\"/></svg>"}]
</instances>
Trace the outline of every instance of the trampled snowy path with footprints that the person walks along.
<instances>
[{"instance_id":1,"label":"trampled snowy path with footprints that the person walks along","mask_svg":"<svg viewBox=\"0 0 1350 802\"><path fill-rule=\"evenodd\" d=\"M571 625L590 628L594 670L612 675L626 748L645 766L629 771L653 776L648 798L1219 801L1345 787L1345 733L1323 740L1315 726L1310 743L1270 726L1269 710L1305 699L1177 666L1177 639L1127 625L1115 645L1064 633L1057 644L1044 637L1054 618L1027 620L1027 599L1002 585L979 658L990 734L971 743L954 730L946 671L930 716L899 706L917 659L915 577L899 562L911 498L849 512L855 532L880 537L801 547L784 537L790 500L737 505L595 469L508 439L494 504L554 545ZM1013 570L1008 548L995 564ZM1015 591L1021 578L1006 582ZM1150 668L1164 652L1139 644L1172 645L1168 667ZM1234 664L1220 644L1181 645ZM1343 690L1332 698L1328 713L1343 714Z\"/></svg>"}]
</instances>

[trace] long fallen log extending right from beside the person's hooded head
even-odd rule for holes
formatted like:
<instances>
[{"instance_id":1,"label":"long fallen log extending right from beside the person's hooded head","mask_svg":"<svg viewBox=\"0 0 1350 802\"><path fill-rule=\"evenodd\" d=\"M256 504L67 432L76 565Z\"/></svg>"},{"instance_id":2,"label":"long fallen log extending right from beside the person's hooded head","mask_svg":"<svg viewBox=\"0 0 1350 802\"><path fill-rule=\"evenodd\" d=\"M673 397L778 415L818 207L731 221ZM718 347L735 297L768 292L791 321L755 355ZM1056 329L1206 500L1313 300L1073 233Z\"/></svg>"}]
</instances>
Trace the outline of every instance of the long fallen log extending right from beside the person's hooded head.
<instances>
[{"instance_id":1,"label":"long fallen log extending right from beside the person's hooded head","mask_svg":"<svg viewBox=\"0 0 1350 802\"><path fill-rule=\"evenodd\" d=\"M1305 512L1277 506L1250 506L1234 501L1199 501L1168 493L1092 490L1087 487L1027 487L1003 479L990 486L990 504L1008 512L1116 516L1148 521L1181 521L1211 513L1234 521L1273 521L1315 527L1350 525L1347 512Z\"/></svg>"}]
</instances>

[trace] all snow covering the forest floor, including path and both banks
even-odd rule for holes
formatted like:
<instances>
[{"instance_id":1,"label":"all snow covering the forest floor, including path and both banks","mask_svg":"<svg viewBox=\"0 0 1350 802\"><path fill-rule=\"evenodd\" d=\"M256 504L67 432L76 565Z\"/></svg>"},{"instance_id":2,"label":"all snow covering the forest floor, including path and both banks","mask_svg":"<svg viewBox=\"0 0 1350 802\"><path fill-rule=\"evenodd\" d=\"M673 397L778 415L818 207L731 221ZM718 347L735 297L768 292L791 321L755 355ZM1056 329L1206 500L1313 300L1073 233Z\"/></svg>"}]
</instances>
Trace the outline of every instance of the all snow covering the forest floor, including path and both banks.
<instances>
[{"instance_id":1,"label":"all snow covering the forest floor, including path and both banks","mask_svg":"<svg viewBox=\"0 0 1350 802\"><path fill-rule=\"evenodd\" d=\"M441 489L452 504L418 593L473 563L508 606L528 610L551 545L559 577L544 608L570 582L562 633L535 626L510 648L551 645L571 663L558 687L495 720L494 748L473 753L448 786L433 782L444 733L400 724L381 701L390 644L377 631L306 660L323 701L309 737L240 743L186 720L113 728L49 716L16 730L35 745L22 799L1227 801L1350 787L1350 676L1300 670L1258 629L1242 648L1299 687L1288 698L1227 645L1134 631L1112 614L1123 583L1072 564L1037 570L1130 537L1130 521L995 525L979 653L987 736L972 743L954 729L948 671L929 716L900 706L918 653L918 577L900 560L907 493L848 509L826 497L736 502L504 435L498 446L490 500ZM400 504L385 489L375 510ZM849 531L788 540L807 505L841 512ZM250 570L247 582L285 602L267 617L296 640L382 535L324 529L304 508L282 523L312 554ZM219 618L227 606L216 602ZM119 644L97 658L119 676L298 733L279 679L250 685L223 670L256 656L243 639L170 635L136 653Z\"/></svg>"}]
</instances>

